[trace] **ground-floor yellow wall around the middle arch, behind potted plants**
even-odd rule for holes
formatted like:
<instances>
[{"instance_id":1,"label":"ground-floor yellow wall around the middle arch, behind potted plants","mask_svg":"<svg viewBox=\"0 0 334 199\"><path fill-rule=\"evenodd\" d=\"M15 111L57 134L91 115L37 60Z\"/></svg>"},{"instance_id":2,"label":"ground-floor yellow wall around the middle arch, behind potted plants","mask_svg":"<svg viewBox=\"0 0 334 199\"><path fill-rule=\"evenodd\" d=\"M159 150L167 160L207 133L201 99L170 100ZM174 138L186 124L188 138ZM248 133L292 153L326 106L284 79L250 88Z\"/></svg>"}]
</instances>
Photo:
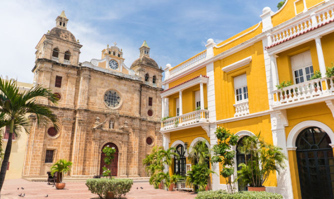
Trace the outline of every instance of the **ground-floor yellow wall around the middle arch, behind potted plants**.
<instances>
[{"instance_id":1,"label":"ground-floor yellow wall around the middle arch, behind potted plants","mask_svg":"<svg viewBox=\"0 0 334 199\"><path fill-rule=\"evenodd\" d=\"M243 119L234 122L228 122L223 124L217 124L218 126L224 127L230 130L231 133L237 133L239 131L250 131L255 135L261 132L261 137L269 144L273 144L270 115L264 115L260 117L253 117L249 119ZM219 165L219 171L222 167ZM220 184L226 184L225 179L220 176ZM268 181L265 183L266 187L277 187L276 173L272 173Z\"/></svg>"}]
</instances>

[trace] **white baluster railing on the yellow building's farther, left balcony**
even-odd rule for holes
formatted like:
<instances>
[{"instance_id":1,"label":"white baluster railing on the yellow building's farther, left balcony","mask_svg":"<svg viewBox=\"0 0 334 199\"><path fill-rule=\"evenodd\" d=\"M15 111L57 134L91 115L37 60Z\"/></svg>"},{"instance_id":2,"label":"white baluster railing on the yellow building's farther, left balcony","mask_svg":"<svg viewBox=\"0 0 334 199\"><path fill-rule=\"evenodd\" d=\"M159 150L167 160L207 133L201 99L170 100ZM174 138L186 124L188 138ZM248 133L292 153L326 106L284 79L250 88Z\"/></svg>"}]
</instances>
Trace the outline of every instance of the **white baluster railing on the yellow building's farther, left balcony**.
<instances>
[{"instance_id":1,"label":"white baluster railing on the yellow building's farther, left balcony","mask_svg":"<svg viewBox=\"0 0 334 199\"><path fill-rule=\"evenodd\" d=\"M180 116L171 117L161 122L161 130L173 129L180 126L208 121L209 111L205 109L195 110Z\"/></svg>"}]
</instances>

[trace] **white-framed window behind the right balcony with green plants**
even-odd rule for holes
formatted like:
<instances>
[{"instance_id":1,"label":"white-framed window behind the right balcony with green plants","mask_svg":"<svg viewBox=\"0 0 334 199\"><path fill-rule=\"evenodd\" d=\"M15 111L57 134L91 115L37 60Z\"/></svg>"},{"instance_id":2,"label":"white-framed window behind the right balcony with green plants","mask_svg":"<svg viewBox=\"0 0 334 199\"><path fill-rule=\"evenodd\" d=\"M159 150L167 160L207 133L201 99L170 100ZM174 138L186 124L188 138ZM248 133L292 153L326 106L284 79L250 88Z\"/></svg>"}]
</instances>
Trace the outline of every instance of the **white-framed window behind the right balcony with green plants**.
<instances>
[{"instance_id":1,"label":"white-framed window behind the right balcony with green plants","mask_svg":"<svg viewBox=\"0 0 334 199\"><path fill-rule=\"evenodd\" d=\"M290 60L295 84L311 80L311 77L314 75L314 71L310 51L292 56Z\"/></svg>"}]
</instances>

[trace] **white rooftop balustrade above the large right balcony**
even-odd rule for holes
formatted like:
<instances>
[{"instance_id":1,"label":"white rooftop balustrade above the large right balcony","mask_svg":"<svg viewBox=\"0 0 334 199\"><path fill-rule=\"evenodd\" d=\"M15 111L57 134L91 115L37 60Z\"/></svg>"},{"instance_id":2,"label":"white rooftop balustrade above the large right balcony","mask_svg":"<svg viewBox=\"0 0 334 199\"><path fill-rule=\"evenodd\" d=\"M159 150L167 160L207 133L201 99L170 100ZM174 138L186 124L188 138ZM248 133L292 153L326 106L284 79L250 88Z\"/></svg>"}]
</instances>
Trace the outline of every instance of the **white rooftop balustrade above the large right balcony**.
<instances>
[{"instance_id":1,"label":"white rooftop balustrade above the large right balcony","mask_svg":"<svg viewBox=\"0 0 334 199\"><path fill-rule=\"evenodd\" d=\"M294 38L304 32L310 31L313 28L331 22L334 19L334 8L324 8L318 10L315 13L303 17L301 20L298 20L297 23L287 24L287 26L282 27L278 31L275 31L271 35L271 45L281 43L287 39Z\"/></svg>"}]
</instances>

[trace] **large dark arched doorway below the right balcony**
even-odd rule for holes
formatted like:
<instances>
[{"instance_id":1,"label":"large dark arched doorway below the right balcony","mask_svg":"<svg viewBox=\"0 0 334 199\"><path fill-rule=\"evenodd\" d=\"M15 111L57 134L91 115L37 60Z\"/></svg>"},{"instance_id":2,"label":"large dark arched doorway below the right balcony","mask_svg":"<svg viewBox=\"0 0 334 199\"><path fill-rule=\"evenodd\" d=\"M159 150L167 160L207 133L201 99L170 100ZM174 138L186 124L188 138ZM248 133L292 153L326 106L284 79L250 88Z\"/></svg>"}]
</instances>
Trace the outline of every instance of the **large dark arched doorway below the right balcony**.
<instances>
[{"instance_id":1,"label":"large dark arched doorway below the right balcony","mask_svg":"<svg viewBox=\"0 0 334 199\"><path fill-rule=\"evenodd\" d=\"M330 143L329 135L315 126L302 130L297 137L296 153L303 199L333 199L334 157Z\"/></svg>"}]
</instances>

